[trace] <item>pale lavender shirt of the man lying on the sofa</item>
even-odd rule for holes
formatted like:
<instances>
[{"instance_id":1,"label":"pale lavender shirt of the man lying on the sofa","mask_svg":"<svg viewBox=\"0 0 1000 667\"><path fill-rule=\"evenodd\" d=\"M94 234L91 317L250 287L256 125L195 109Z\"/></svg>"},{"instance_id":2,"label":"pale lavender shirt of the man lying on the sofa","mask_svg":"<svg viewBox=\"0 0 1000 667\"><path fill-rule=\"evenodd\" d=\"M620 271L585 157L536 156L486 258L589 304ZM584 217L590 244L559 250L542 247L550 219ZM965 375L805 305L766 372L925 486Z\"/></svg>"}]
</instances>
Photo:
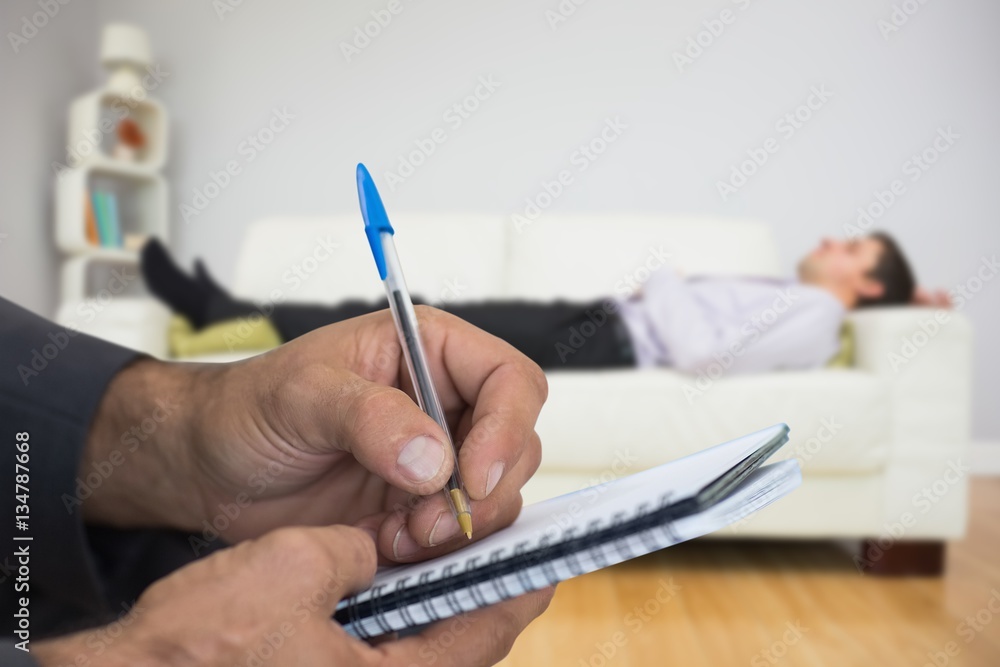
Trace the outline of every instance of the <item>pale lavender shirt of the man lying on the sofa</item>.
<instances>
[{"instance_id":1,"label":"pale lavender shirt of the man lying on the sofa","mask_svg":"<svg viewBox=\"0 0 1000 667\"><path fill-rule=\"evenodd\" d=\"M840 349L846 313L830 292L797 281L685 279L669 268L619 305L640 367L690 373L822 366Z\"/></svg>"}]
</instances>

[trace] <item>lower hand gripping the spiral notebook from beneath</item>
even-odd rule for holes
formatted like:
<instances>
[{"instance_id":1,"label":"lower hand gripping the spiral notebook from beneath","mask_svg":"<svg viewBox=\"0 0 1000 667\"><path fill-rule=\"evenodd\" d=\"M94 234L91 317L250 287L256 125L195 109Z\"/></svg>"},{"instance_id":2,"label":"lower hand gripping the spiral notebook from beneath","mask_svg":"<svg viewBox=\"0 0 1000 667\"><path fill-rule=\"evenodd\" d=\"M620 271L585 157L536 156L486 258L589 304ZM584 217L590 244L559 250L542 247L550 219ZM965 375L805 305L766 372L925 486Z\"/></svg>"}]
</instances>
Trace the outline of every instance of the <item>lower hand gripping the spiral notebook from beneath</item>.
<instances>
[{"instance_id":1,"label":"lower hand gripping the spiral notebook from beneath","mask_svg":"<svg viewBox=\"0 0 1000 667\"><path fill-rule=\"evenodd\" d=\"M286 528L242 542L150 586L128 627L42 642L44 667L207 665L492 665L545 607L552 589L524 595L420 635L369 646L332 620L337 602L375 572L360 530Z\"/></svg>"}]
</instances>

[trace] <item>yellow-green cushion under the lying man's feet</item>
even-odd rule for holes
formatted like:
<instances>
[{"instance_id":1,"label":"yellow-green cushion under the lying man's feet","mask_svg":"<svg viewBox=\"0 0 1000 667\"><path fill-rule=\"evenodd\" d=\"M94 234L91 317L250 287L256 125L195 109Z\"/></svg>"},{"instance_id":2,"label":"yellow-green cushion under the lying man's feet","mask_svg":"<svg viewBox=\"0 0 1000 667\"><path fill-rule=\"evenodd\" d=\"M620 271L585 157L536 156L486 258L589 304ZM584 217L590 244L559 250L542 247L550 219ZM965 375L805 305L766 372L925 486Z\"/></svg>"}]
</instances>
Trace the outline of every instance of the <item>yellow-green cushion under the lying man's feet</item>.
<instances>
[{"instance_id":1,"label":"yellow-green cushion under the lying man's feet","mask_svg":"<svg viewBox=\"0 0 1000 667\"><path fill-rule=\"evenodd\" d=\"M265 317L226 320L195 331L187 318L175 315L170 320L167 342L171 356L197 357L202 354L270 350L283 341L278 330Z\"/></svg>"}]
</instances>

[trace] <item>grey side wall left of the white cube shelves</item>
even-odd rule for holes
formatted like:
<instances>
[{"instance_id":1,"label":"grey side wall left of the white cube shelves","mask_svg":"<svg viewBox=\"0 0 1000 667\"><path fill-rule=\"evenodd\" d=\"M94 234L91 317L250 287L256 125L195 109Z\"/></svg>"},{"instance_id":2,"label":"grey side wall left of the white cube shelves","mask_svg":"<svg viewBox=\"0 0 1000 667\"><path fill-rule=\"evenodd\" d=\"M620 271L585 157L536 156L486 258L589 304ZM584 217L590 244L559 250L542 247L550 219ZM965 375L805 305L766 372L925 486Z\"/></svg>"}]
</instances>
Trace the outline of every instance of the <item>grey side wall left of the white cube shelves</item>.
<instances>
[{"instance_id":1,"label":"grey side wall left of the white cube shelves","mask_svg":"<svg viewBox=\"0 0 1000 667\"><path fill-rule=\"evenodd\" d=\"M66 159L70 102L94 84L98 30L93 6L55 6L33 34L22 21L40 11L35 2L0 4L0 296L46 315L59 266L50 165ZM12 44L22 30L30 39Z\"/></svg>"}]
</instances>

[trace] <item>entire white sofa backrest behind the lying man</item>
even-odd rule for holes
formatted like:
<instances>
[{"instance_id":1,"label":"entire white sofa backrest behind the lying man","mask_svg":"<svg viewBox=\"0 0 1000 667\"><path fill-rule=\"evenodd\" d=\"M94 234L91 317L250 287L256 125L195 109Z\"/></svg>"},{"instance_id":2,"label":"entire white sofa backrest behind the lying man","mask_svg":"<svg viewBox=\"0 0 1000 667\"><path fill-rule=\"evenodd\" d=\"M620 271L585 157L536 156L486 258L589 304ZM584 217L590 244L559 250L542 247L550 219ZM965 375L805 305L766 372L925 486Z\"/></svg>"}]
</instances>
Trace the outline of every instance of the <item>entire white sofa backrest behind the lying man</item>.
<instances>
[{"instance_id":1,"label":"entire white sofa backrest behind the lying man","mask_svg":"<svg viewBox=\"0 0 1000 667\"><path fill-rule=\"evenodd\" d=\"M590 299L641 284L664 262L686 275L775 277L770 229L740 219L393 214L414 295L432 303L496 297ZM383 296L360 215L280 217L247 232L234 292L333 303Z\"/></svg>"}]
</instances>

